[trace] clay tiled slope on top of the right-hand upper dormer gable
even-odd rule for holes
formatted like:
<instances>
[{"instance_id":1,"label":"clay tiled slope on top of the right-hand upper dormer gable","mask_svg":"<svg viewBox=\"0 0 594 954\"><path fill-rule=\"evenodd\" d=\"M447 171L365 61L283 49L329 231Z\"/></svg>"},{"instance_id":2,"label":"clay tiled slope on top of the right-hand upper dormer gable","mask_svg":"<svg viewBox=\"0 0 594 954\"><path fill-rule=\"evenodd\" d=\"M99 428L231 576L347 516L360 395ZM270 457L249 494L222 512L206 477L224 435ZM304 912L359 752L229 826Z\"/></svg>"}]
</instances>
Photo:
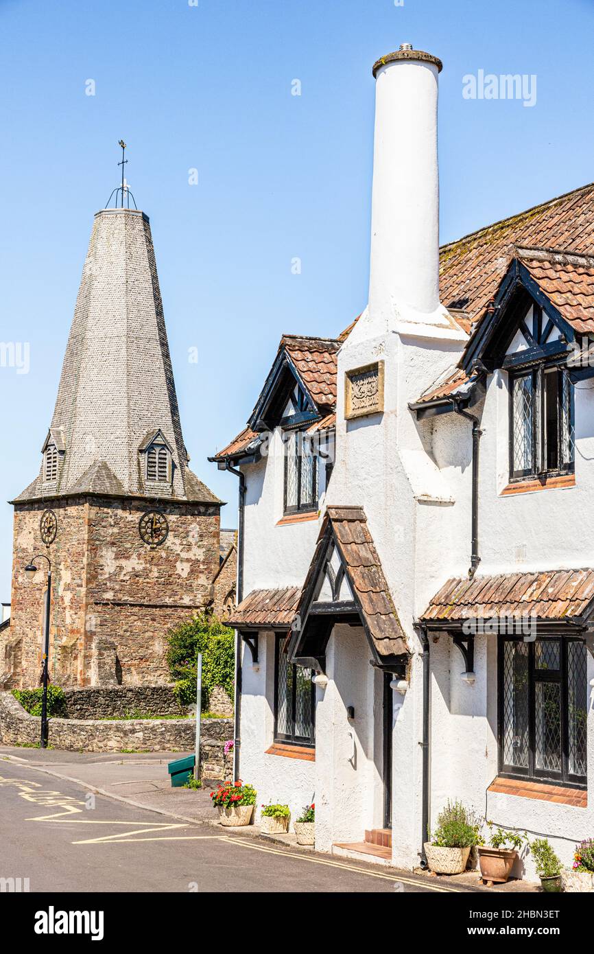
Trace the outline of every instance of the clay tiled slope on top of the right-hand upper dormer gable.
<instances>
[{"instance_id":1,"label":"clay tiled slope on top of the right-hand upper dormer gable","mask_svg":"<svg viewBox=\"0 0 594 954\"><path fill-rule=\"evenodd\" d=\"M576 331L594 332L594 260L575 262L565 256L523 259L522 264L544 294Z\"/></svg>"}]
</instances>

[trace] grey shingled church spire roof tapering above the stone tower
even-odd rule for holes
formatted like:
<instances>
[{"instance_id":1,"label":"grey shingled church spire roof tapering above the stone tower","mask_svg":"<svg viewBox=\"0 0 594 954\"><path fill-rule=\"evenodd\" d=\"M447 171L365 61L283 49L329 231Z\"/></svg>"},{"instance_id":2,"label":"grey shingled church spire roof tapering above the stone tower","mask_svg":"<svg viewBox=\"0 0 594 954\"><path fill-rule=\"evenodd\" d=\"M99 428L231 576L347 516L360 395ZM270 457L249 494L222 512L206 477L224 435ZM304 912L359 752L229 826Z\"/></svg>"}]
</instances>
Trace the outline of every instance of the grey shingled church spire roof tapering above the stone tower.
<instances>
[{"instance_id":1,"label":"grey shingled church spire roof tapering above the stone tower","mask_svg":"<svg viewBox=\"0 0 594 954\"><path fill-rule=\"evenodd\" d=\"M94 218L51 418L57 481L44 484L42 468L16 499L164 495L145 487L141 462L159 431L172 452L167 496L220 503L187 467L149 218L104 209Z\"/></svg>"}]
</instances>

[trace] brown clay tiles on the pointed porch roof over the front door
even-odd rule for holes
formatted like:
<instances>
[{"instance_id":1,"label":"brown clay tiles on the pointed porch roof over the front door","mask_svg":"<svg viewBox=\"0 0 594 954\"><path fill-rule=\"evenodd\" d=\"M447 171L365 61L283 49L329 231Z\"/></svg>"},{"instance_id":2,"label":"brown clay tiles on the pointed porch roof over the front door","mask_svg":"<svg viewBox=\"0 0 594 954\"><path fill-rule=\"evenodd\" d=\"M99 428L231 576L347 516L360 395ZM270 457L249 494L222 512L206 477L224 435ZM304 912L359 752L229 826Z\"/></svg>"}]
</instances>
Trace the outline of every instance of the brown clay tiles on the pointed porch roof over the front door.
<instances>
[{"instance_id":1,"label":"brown clay tiles on the pointed porch roof over the front door","mask_svg":"<svg viewBox=\"0 0 594 954\"><path fill-rule=\"evenodd\" d=\"M329 532L334 535L362 622L379 656L408 653L398 612L362 507L329 507L326 510L296 612L309 609L307 604L312 598L317 574L321 569L321 557Z\"/></svg>"}]
</instances>

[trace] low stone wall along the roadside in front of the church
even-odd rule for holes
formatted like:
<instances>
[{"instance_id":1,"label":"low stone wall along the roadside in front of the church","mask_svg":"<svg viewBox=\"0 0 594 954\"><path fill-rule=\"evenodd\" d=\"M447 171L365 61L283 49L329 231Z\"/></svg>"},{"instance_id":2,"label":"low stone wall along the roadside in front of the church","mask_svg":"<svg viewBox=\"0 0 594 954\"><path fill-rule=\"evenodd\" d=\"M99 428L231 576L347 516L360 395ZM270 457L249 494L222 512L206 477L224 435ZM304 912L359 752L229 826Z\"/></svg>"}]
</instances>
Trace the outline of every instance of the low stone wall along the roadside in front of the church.
<instances>
[{"instance_id":1,"label":"low stone wall along the roadside in front of the church","mask_svg":"<svg viewBox=\"0 0 594 954\"><path fill-rule=\"evenodd\" d=\"M40 716L31 716L9 693L0 693L0 743L36 745ZM233 719L202 719L201 750L205 778L230 778L231 758L224 742L233 738ZM195 720L179 719L50 719L49 743L69 752L192 752Z\"/></svg>"}]
</instances>

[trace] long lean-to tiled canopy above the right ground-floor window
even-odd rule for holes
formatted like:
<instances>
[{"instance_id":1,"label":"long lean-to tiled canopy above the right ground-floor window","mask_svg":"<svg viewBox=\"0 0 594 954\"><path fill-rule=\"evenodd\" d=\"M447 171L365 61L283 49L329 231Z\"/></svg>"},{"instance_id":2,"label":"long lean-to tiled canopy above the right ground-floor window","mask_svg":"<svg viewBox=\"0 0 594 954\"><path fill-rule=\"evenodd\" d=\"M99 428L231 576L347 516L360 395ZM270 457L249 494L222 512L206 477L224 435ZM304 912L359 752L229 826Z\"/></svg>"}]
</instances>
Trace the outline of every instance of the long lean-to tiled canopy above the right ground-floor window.
<instances>
[{"instance_id":1,"label":"long lean-to tiled canopy above the right ground-floor window","mask_svg":"<svg viewBox=\"0 0 594 954\"><path fill-rule=\"evenodd\" d=\"M450 633L467 672L472 672L475 635L577 634L584 631L593 609L591 569L457 577L435 594L420 616L420 626Z\"/></svg>"}]
</instances>

